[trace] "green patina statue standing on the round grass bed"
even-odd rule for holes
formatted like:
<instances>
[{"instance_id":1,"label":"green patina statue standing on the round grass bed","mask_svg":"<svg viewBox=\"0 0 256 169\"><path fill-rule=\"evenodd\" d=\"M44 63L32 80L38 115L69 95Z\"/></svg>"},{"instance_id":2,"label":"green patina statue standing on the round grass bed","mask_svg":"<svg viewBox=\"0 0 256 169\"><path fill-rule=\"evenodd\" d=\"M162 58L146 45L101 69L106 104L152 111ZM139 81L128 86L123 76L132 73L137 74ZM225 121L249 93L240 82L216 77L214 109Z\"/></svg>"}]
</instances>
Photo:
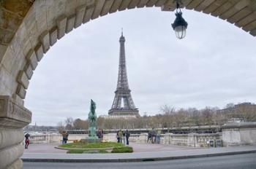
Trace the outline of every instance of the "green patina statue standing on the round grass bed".
<instances>
[{"instance_id":1,"label":"green patina statue standing on the round grass bed","mask_svg":"<svg viewBox=\"0 0 256 169\"><path fill-rule=\"evenodd\" d=\"M96 121L97 121L97 115L95 112L96 109L96 103L91 100L91 108L89 113L89 139L97 139L96 134Z\"/></svg>"}]
</instances>

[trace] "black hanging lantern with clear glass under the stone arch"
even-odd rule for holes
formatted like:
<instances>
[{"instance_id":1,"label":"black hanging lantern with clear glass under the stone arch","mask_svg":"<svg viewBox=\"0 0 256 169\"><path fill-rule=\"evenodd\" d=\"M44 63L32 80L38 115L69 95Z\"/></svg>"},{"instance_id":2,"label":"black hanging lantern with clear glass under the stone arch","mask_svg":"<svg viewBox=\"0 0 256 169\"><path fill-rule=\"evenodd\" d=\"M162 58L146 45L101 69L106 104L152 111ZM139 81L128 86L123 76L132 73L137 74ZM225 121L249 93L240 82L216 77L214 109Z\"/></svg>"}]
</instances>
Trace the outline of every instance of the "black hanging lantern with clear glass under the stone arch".
<instances>
[{"instance_id":1,"label":"black hanging lantern with clear glass under the stone arch","mask_svg":"<svg viewBox=\"0 0 256 169\"><path fill-rule=\"evenodd\" d=\"M178 11L179 9L179 11ZM173 30L175 31L178 39L183 39L186 36L187 22L182 17L181 8L179 7L178 0L176 0L176 19L172 23Z\"/></svg>"}]
</instances>

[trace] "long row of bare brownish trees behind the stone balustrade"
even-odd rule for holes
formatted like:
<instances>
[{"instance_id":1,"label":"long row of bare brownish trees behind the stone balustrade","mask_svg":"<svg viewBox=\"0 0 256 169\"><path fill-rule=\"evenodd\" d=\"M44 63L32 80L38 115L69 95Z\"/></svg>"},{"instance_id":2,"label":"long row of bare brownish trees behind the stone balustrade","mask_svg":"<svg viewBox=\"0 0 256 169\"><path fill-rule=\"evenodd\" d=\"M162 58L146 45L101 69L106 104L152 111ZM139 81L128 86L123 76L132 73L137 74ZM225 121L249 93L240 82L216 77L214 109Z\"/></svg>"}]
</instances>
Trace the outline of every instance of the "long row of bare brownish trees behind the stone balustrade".
<instances>
[{"instance_id":1,"label":"long row of bare brownish trees behind the stone balustrade","mask_svg":"<svg viewBox=\"0 0 256 169\"><path fill-rule=\"evenodd\" d=\"M178 109L173 106L163 105L160 107L161 114L148 116L144 113L143 117L137 118L118 118L105 119L98 117L97 127L103 129L132 129L132 128L151 128L151 127L183 127L195 125L223 125L230 118L241 118L245 121L256 121L256 105L251 103L241 103L234 105L228 103L225 109L219 110L217 107L206 107L197 110L195 108ZM64 124L58 123L59 130L66 129L88 129L89 122L83 119L72 119L67 117Z\"/></svg>"}]
</instances>

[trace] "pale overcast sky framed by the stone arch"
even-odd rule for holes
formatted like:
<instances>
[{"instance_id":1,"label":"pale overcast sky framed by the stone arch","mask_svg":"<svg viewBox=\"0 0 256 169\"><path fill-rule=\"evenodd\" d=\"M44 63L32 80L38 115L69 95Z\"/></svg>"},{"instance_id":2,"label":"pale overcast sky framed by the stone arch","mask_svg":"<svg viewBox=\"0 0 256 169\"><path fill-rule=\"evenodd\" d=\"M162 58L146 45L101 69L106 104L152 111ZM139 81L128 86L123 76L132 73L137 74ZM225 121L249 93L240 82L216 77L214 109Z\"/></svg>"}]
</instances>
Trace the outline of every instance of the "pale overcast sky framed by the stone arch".
<instances>
[{"instance_id":1,"label":"pale overcast sky framed by the stone arch","mask_svg":"<svg viewBox=\"0 0 256 169\"><path fill-rule=\"evenodd\" d=\"M130 9L99 17L59 40L39 63L25 105L32 124L87 119L90 99L108 114L116 90L121 28L127 74L140 114L180 108L222 108L256 102L255 37L217 17L183 9L187 36L176 39L174 12Z\"/></svg>"}]
</instances>

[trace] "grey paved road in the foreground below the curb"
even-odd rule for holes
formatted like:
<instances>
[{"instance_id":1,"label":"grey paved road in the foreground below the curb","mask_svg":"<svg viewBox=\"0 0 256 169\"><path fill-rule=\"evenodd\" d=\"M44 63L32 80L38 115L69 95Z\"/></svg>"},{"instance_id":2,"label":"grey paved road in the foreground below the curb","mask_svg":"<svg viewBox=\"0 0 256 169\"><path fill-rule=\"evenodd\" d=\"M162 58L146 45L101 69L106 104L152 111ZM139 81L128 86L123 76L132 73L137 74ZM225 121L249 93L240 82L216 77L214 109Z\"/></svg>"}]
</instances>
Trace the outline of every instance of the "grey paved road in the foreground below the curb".
<instances>
[{"instance_id":1,"label":"grey paved road in the foreground below the curb","mask_svg":"<svg viewBox=\"0 0 256 169\"><path fill-rule=\"evenodd\" d=\"M184 160L167 160L156 162L98 162L98 163L73 163L73 162L24 162L24 169L181 169L181 168L232 168L232 169L251 169L256 168L256 153L238 154L221 157L203 157Z\"/></svg>"}]
</instances>

